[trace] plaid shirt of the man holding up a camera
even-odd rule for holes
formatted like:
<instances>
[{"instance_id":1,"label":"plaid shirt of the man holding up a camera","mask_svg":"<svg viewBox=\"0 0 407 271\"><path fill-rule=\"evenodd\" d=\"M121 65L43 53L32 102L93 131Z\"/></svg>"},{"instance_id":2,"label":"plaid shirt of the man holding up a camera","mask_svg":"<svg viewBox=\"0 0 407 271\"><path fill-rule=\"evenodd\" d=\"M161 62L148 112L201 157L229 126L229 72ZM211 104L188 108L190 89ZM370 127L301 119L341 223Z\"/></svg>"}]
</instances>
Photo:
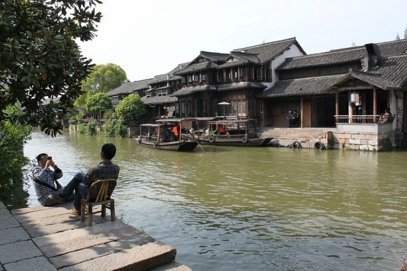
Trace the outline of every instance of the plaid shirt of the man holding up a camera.
<instances>
[{"instance_id":1,"label":"plaid shirt of the man holding up a camera","mask_svg":"<svg viewBox=\"0 0 407 271\"><path fill-rule=\"evenodd\" d=\"M45 170L44 167L38 165L33 169L33 179L37 179L40 182L47 183L55 188L57 188L55 180L61 178L62 175L62 170L59 168L55 169L55 171L51 169ZM50 188L36 182L34 182L34 188L37 193L38 202L41 205L44 205L48 199L48 196L51 195L52 192L54 192Z\"/></svg>"}]
</instances>

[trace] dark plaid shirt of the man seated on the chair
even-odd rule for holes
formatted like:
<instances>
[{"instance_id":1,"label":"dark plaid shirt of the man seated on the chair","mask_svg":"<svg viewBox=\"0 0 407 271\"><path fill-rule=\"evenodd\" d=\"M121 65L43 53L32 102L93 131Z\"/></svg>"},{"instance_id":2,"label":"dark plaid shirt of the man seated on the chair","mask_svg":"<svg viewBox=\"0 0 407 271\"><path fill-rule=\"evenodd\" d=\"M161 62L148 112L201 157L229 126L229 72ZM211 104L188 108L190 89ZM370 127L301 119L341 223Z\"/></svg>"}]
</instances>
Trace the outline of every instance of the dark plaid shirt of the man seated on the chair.
<instances>
[{"instance_id":1,"label":"dark plaid shirt of the man seated on the chair","mask_svg":"<svg viewBox=\"0 0 407 271\"><path fill-rule=\"evenodd\" d=\"M115 179L119 176L120 168L119 166L111 163L102 161L99 165L93 166L88 170L85 177L83 178L83 183L87 186L90 186L93 182L99 179ZM96 198L98 196L98 192L100 189L100 185L96 186L96 189L93 190L91 194L92 198Z\"/></svg>"}]
</instances>

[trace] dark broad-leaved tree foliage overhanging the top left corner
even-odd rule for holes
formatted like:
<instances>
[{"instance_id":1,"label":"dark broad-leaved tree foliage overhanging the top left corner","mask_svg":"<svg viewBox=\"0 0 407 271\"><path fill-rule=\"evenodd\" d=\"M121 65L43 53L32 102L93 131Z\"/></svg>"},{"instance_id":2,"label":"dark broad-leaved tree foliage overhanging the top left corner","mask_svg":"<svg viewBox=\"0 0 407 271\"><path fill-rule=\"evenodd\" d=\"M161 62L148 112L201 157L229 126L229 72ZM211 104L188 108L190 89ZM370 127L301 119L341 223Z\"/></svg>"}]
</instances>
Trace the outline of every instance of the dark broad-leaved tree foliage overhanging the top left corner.
<instances>
[{"instance_id":1,"label":"dark broad-leaved tree foliage overhanging the top left corner","mask_svg":"<svg viewBox=\"0 0 407 271\"><path fill-rule=\"evenodd\" d=\"M100 0L0 1L0 125L7 105L21 103L19 123L39 125L46 134L62 129L62 119L81 92L94 65L75 39L91 40ZM59 103L44 104L44 98ZM1 127L1 126L0 126Z\"/></svg>"}]
</instances>

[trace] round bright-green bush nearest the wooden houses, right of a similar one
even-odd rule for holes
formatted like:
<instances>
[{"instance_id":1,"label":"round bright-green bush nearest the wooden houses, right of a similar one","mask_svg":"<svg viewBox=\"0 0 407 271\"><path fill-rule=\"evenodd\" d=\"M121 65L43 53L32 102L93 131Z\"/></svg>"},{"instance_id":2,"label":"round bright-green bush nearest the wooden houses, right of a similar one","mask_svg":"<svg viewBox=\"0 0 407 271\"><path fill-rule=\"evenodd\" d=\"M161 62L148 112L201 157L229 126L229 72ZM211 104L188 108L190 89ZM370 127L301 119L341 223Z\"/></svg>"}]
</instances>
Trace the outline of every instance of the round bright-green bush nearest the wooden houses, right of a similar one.
<instances>
[{"instance_id":1,"label":"round bright-green bush nearest the wooden houses, right of a similar one","mask_svg":"<svg viewBox=\"0 0 407 271\"><path fill-rule=\"evenodd\" d=\"M134 93L121 100L115 111L117 116L123 120L135 119L147 112L146 105L140 96Z\"/></svg>"}]
</instances>

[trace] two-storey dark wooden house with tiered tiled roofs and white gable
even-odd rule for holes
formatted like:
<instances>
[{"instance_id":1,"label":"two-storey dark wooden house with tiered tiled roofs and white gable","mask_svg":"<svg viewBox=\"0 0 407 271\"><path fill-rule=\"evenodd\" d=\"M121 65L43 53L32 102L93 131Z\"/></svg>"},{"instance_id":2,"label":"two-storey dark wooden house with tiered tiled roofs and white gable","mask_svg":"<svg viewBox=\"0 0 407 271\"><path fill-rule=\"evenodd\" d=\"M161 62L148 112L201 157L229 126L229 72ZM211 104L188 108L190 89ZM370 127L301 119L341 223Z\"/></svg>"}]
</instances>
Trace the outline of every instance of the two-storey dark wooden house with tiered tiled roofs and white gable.
<instances>
[{"instance_id":1,"label":"two-storey dark wooden house with tiered tiled roofs and white gable","mask_svg":"<svg viewBox=\"0 0 407 271\"><path fill-rule=\"evenodd\" d=\"M174 73L181 76L183 86L171 95L178 98L177 115L225 114L260 121L262 104L257 95L276 81L275 67L287 57L304 54L295 38L235 49L228 54L201 51Z\"/></svg>"}]
</instances>

